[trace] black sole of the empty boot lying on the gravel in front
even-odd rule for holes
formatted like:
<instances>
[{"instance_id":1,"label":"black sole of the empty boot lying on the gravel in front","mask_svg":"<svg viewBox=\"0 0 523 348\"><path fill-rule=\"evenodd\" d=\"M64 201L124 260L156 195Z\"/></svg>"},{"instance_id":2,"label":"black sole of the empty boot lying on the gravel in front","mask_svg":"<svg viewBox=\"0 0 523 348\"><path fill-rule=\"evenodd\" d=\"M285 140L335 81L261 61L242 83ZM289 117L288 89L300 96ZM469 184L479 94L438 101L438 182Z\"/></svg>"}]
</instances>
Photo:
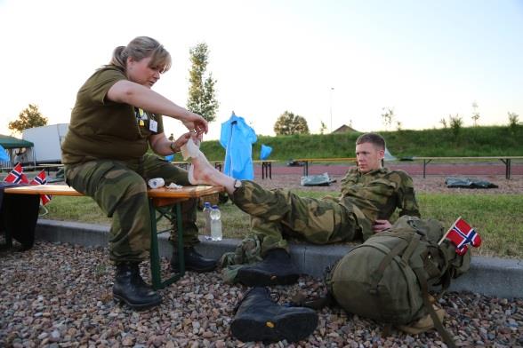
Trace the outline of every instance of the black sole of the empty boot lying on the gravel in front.
<instances>
[{"instance_id":1,"label":"black sole of the empty boot lying on the gravel in front","mask_svg":"<svg viewBox=\"0 0 523 348\"><path fill-rule=\"evenodd\" d=\"M261 321L235 318L230 324L232 336L242 342L297 342L307 338L318 327L316 312L291 313L275 320Z\"/></svg>"}]
</instances>

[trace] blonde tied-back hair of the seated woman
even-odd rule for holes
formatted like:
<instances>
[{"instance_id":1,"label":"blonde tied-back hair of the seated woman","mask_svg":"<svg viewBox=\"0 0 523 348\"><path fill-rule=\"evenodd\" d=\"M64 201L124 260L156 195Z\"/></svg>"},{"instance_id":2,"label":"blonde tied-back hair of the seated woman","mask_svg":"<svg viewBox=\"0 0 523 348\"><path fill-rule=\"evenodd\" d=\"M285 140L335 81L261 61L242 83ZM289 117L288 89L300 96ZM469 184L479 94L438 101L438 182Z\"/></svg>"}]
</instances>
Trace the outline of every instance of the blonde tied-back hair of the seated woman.
<instances>
[{"instance_id":1,"label":"blonde tied-back hair of the seated woman","mask_svg":"<svg viewBox=\"0 0 523 348\"><path fill-rule=\"evenodd\" d=\"M118 46L113 51L110 64L126 70L127 58L129 57L137 61L152 57L149 67L160 67L162 73L165 73L171 67L171 54L157 40L148 36L138 36L127 46Z\"/></svg>"}]
</instances>

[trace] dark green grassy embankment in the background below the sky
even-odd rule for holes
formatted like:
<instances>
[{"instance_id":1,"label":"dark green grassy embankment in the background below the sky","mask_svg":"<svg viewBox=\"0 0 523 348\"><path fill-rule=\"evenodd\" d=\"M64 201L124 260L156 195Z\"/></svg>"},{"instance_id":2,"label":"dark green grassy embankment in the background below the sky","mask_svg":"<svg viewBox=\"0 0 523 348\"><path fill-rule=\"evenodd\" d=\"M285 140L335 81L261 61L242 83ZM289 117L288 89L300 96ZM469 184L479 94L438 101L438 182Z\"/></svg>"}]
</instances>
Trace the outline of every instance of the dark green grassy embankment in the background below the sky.
<instances>
[{"instance_id":1,"label":"dark green grassy embankment in the background below the sky","mask_svg":"<svg viewBox=\"0 0 523 348\"><path fill-rule=\"evenodd\" d=\"M523 125L462 128L457 136L450 129L378 131L390 153L398 158L412 156L503 156L523 155ZM253 159L258 160L261 144L272 146L271 160L291 158L353 157L356 138L361 133L259 136L253 145ZM225 156L217 140L204 141L207 158L221 161Z\"/></svg>"}]
</instances>

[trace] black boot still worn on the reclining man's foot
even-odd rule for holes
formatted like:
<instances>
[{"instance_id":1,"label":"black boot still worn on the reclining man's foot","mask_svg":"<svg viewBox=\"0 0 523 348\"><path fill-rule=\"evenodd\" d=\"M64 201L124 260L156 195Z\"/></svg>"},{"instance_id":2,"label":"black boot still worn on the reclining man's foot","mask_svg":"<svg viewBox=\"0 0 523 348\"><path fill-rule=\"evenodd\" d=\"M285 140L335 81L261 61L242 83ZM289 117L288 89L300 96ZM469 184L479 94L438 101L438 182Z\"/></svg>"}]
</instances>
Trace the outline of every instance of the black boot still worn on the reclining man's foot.
<instances>
[{"instance_id":1,"label":"black boot still worn on the reclining man's foot","mask_svg":"<svg viewBox=\"0 0 523 348\"><path fill-rule=\"evenodd\" d=\"M278 248L269 250L262 261L241 267L236 280L248 287L263 287L294 284L299 277L291 256Z\"/></svg>"}]
</instances>

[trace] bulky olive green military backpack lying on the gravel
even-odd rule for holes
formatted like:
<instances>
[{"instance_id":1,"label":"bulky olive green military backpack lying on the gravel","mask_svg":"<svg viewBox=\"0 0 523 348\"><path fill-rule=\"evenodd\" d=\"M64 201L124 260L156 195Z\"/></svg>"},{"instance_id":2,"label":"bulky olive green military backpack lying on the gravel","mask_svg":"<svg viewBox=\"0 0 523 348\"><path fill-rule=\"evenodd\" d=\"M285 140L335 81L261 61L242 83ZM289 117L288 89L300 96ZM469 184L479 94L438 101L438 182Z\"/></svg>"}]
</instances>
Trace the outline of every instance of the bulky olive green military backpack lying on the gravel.
<instances>
[{"instance_id":1,"label":"bulky olive green military backpack lying on the gravel","mask_svg":"<svg viewBox=\"0 0 523 348\"><path fill-rule=\"evenodd\" d=\"M399 218L334 265L326 279L330 295L347 312L391 325L430 314L447 341L450 337L437 319L429 289L447 289L452 278L469 269L471 253L457 255L447 240L438 244L443 234L437 220Z\"/></svg>"}]
</instances>

